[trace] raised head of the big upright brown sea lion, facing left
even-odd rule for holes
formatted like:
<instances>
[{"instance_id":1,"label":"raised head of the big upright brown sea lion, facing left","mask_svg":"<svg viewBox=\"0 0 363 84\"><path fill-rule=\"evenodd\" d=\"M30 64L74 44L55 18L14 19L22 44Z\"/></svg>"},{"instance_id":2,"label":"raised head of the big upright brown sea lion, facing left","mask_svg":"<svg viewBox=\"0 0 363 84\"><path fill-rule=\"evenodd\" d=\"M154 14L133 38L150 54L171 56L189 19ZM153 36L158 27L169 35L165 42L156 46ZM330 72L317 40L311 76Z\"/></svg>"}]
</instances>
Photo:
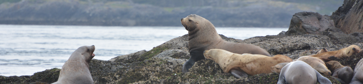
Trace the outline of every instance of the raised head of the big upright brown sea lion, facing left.
<instances>
[{"instance_id":1,"label":"raised head of the big upright brown sea lion, facing left","mask_svg":"<svg viewBox=\"0 0 363 84\"><path fill-rule=\"evenodd\" d=\"M185 18L181 18L180 22L181 25L185 27L185 30L188 30L189 32L194 31L198 28L205 28L206 25L213 26L213 24L207 19L200 17L196 14L191 14Z\"/></svg>"}]
</instances>

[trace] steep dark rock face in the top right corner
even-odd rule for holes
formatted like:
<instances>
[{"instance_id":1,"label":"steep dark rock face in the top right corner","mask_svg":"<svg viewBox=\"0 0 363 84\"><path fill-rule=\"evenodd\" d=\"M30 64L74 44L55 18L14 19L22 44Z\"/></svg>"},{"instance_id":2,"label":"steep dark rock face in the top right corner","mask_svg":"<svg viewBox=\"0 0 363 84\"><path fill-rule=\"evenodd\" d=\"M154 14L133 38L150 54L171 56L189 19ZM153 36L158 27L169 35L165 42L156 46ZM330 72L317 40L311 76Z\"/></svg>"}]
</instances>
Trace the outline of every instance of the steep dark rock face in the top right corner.
<instances>
[{"instance_id":1,"label":"steep dark rock face in the top right corner","mask_svg":"<svg viewBox=\"0 0 363 84\"><path fill-rule=\"evenodd\" d=\"M341 29L346 34L363 32L362 6L362 0L344 0L343 6L340 6L339 9L330 16L334 19L335 27Z\"/></svg>"}]
</instances>

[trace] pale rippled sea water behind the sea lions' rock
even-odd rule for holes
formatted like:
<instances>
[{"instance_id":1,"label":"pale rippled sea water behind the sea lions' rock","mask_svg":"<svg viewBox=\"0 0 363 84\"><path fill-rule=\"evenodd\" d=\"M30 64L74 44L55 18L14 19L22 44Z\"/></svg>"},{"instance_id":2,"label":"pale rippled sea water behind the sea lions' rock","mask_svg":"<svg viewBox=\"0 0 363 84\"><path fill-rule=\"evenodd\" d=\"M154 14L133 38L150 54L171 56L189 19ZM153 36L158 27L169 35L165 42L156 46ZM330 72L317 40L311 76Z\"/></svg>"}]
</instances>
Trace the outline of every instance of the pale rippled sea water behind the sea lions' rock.
<instances>
[{"instance_id":1,"label":"pale rippled sea water behind the sea lions' rock","mask_svg":"<svg viewBox=\"0 0 363 84\"><path fill-rule=\"evenodd\" d=\"M235 39L277 35L288 28L216 27ZM78 47L95 45L94 59L151 50L188 34L180 27L0 25L0 75L22 76L62 68Z\"/></svg>"}]
</instances>

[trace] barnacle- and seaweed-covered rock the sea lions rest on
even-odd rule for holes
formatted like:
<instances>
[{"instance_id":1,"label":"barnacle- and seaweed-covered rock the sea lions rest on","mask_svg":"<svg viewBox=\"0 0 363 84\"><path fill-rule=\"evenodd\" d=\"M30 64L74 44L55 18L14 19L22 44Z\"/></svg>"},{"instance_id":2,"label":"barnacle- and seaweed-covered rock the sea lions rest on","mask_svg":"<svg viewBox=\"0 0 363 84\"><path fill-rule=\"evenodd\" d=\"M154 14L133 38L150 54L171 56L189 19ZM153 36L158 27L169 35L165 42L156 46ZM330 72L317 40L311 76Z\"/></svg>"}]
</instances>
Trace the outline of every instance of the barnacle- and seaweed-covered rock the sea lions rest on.
<instances>
[{"instance_id":1,"label":"barnacle- and seaweed-covered rock the sea lions rest on","mask_svg":"<svg viewBox=\"0 0 363 84\"><path fill-rule=\"evenodd\" d=\"M339 50L349 45L358 45L362 48L360 33L343 34L330 30L327 34L304 34L287 36L284 34L257 36L245 40L233 39L220 35L224 40L236 43L257 45L266 49L270 54L282 54L292 59L315 54L319 49L327 48L329 51ZM284 33L284 32L282 32ZM329 33L329 34L328 34ZM348 37L339 37L339 36ZM358 39L358 40L357 40ZM330 57L344 66L354 69L356 63L362 58L363 52L354 54L345 59ZM278 74L266 73L237 79L230 73L224 73L217 63L210 59L203 59L182 73L183 63L189 59L188 35L183 35L167 41L150 51L126 54L103 61L92 59L89 66L95 84L189 84L189 83L244 83L244 84L276 84ZM49 84L57 81L59 68L53 68L34 73L32 76L0 76L0 84L30 83ZM327 76L333 84L340 84L336 79Z\"/></svg>"}]
</instances>

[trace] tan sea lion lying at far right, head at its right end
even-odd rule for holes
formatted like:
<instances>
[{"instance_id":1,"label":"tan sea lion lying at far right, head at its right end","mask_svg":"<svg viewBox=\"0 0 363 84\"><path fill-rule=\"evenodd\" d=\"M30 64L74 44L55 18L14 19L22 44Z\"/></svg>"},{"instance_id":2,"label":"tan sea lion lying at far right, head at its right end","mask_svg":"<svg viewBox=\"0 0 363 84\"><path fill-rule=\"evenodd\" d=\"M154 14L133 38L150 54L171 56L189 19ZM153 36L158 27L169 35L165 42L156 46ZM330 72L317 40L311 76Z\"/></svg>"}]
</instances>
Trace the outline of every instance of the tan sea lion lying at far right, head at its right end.
<instances>
[{"instance_id":1,"label":"tan sea lion lying at far right, head at its right end","mask_svg":"<svg viewBox=\"0 0 363 84\"><path fill-rule=\"evenodd\" d=\"M352 54L361 52L362 49L360 49L357 45L350 45L347 48L343 48L337 51L330 51L330 52L324 52L320 54L316 54L313 57L323 57L328 58L330 56L338 57L338 58L346 58L352 56Z\"/></svg>"}]
</instances>

